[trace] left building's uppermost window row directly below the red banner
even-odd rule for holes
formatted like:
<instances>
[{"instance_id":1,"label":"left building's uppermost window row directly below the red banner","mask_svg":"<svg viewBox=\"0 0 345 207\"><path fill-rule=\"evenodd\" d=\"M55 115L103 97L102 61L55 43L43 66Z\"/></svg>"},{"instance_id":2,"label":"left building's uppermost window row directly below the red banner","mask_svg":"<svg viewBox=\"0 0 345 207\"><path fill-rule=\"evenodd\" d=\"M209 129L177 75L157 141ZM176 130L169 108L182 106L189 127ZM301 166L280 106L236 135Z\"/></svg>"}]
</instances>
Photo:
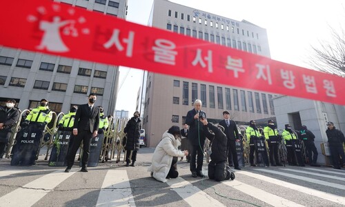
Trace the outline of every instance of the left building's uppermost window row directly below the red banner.
<instances>
[{"instance_id":1,"label":"left building's uppermost window row directly below the red banner","mask_svg":"<svg viewBox=\"0 0 345 207\"><path fill-rule=\"evenodd\" d=\"M12 66L13 60L14 58L12 57L0 56L0 65ZM27 59L18 59L16 66L21 67L21 68L31 68L32 61L27 60ZM39 70L45 70L45 71L51 71L51 72L54 70L54 68L55 68L54 63L41 62L41 66L39 66ZM71 71L72 71L72 66L59 65L57 67L57 72L70 74ZM78 70L78 75L90 77L91 73L92 73L92 70L88 68L79 68ZM107 72L102 71L102 70L95 70L95 73L93 75L93 77L97 77L101 79L106 79L106 76L107 76Z\"/></svg>"}]
</instances>

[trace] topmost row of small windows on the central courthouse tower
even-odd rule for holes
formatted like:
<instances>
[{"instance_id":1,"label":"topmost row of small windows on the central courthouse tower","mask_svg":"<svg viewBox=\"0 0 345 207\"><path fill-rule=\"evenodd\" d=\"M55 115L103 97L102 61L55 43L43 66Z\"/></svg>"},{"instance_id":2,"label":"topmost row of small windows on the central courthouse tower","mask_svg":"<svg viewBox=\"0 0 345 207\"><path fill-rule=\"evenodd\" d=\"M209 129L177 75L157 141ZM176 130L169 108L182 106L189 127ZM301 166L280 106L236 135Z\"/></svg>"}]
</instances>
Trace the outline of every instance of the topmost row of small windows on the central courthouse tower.
<instances>
[{"instance_id":1,"label":"topmost row of small windows on the central courthouse tower","mask_svg":"<svg viewBox=\"0 0 345 207\"><path fill-rule=\"evenodd\" d=\"M169 17L172 16L171 10L168 10L168 16ZM179 16L178 12L175 11L174 17L179 18L178 16ZM181 13L181 19L184 20L184 13ZM187 14L187 21L190 21L190 15L189 14ZM199 24L204 23L205 26L208 26L208 24L210 24L211 28L213 28L213 27L215 27L217 29L220 28L221 30L226 30L226 31L230 32L230 26L224 25L223 23L220 23L220 24L218 22L213 23L213 21L208 21L207 19L204 19L204 21L203 21L200 17L198 18L198 22L199 22ZM197 23L197 17L193 17L193 23ZM236 31L237 31L237 34L239 34L239 28L236 28ZM235 27L231 26L231 32L235 33ZM256 33L256 35L254 35L254 32L249 32L248 30L245 31L242 29L242 35L243 36L246 35L247 37L251 36L252 38L256 37L256 39L259 39L258 33Z\"/></svg>"}]
</instances>

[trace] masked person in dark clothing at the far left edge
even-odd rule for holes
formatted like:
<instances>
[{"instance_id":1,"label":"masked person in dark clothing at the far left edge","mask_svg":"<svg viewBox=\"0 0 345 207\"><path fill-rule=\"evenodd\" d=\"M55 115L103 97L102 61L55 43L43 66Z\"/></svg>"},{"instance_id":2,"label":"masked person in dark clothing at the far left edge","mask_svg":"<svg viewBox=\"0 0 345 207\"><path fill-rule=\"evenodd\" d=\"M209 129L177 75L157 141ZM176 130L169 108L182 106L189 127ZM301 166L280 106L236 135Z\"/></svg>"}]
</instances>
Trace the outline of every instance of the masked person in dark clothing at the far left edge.
<instances>
[{"instance_id":1,"label":"masked person in dark clothing at the far left edge","mask_svg":"<svg viewBox=\"0 0 345 207\"><path fill-rule=\"evenodd\" d=\"M19 110L14 105L14 99L8 99L6 106L0 106L0 159L5 153L5 147L12 135L11 128L19 119Z\"/></svg>"}]
</instances>

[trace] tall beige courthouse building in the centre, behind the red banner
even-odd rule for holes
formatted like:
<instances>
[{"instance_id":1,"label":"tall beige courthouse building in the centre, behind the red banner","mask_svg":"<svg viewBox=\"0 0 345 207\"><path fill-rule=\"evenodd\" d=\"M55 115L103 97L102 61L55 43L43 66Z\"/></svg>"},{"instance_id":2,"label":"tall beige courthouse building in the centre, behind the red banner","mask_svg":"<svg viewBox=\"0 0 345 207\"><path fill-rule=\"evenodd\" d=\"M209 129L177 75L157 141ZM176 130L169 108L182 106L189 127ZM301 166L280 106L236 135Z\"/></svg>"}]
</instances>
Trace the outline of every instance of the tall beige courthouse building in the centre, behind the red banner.
<instances>
[{"instance_id":1,"label":"tall beige courthouse building in the centre, behind the red banner","mask_svg":"<svg viewBox=\"0 0 345 207\"><path fill-rule=\"evenodd\" d=\"M270 57L266 29L245 20L236 21L167 0L155 0L150 26ZM238 124L246 124L251 119L274 117L274 96L266 92L148 72L143 116L148 146L157 146L161 135L170 126L181 127L195 99L201 99L202 110L210 121L223 119L222 112L228 110L230 117Z\"/></svg>"}]
</instances>

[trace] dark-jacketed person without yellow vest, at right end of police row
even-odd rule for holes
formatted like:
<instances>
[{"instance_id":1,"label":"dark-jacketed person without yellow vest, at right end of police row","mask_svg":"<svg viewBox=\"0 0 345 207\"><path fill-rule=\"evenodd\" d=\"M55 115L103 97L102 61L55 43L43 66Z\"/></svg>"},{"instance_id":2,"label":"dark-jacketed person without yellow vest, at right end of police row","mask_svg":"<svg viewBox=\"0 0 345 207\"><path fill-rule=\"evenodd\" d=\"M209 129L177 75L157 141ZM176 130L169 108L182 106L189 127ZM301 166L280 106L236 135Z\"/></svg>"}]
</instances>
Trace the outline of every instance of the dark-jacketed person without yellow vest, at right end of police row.
<instances>
[{"instance_id":1,"label":"dark-jacketed person without yellow vest, at right end of police row","mask_svg":"<svg viewBox=\"0 0 345 207\"><path fill-rule=\"evenodd\" d=\"M301 130L299 130L299 136L301 137L302 141L304 142L304 146L306 147L309 164L311 166L319 166L317 164L317 149L314 144L315 135L313 134L313 132L308 130L306 126L302 126Z\"/></svg>"}]
</instances>

